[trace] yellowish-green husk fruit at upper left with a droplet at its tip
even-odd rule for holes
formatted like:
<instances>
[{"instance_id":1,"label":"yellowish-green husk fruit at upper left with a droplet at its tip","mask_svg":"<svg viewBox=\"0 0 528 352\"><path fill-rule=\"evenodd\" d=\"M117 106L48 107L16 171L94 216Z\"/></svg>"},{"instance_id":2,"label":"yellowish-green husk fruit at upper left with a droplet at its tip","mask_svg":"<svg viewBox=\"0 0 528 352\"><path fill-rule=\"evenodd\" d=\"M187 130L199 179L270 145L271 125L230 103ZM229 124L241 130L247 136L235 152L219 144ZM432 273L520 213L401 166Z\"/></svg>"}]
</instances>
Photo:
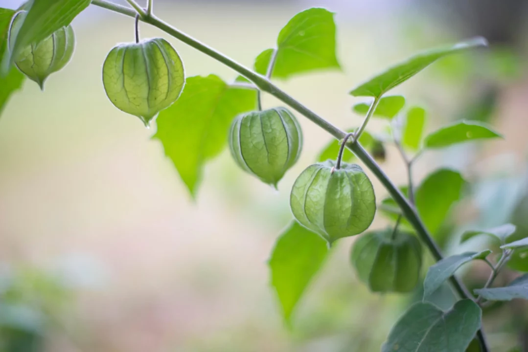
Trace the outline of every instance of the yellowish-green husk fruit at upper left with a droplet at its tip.
<instances>
[{"instance_id":1,"label":"yellowish-green husk fruit at upper left with a droplet at its tip","mask_svg":"<svg viewBox=\"0 0 528 352\"><path fill-rule=\"evenodd\" d=\"M119 44L110 50L102 68L102 82L110 101L149 125L159 111L178 99L185 83L180 56L166 40L148 39Z\"/></svg>"}]
</instances>

